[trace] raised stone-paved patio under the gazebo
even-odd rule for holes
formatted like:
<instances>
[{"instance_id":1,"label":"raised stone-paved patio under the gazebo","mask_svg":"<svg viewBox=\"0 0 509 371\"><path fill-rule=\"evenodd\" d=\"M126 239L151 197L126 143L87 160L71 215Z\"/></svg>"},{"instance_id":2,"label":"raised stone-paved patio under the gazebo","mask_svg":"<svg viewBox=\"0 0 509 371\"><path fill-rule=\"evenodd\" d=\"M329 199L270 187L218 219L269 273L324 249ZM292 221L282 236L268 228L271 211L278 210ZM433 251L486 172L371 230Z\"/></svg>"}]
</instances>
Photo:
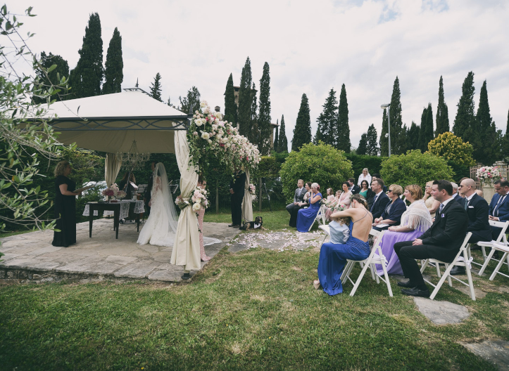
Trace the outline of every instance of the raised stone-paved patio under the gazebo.
<instances>
[{"instance_id":1,"label":"raised stone-paved patio under the gazebo","mask_svg":"<svg viewBox=\"0 0 509 371\"><path fill-rule=\"evenodd\" d=\"M208 256L215 256L239 230L228 228L227 223L204 223L203 233L222 240L205 247ZM136 224L120 224L116 240L113 220L97 219L92 238L89 238L89 223L79 223L77 244L66 248L51 245L51 230L5 237L0 247L5 254L0 263L0 280L44 282L106 278L180 282L183 268L170 264L172 247L138 245L138 234ZM201 268L205 264L202 262Z\"/></svg>"}]
</instances>

